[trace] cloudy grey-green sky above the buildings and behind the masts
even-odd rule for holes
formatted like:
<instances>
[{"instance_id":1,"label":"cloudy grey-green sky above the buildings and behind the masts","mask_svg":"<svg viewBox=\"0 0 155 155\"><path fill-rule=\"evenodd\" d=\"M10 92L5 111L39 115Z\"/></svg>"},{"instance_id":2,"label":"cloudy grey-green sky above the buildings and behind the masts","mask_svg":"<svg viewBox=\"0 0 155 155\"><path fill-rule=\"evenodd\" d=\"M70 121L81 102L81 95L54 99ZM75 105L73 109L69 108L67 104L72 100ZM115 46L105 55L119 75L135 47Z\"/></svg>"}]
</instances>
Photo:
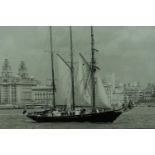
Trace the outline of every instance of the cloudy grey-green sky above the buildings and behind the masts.
<instances>
[{"instance_id":1,"label":"cloudy grey-green sky above the buildings and behind the masts","mask_svg":"<svg viewBox=\"0 0 155 155\"><path fill-rule=\"evenodd\" d=\"M102 75L115 73L119 81L155 82L155 27L94 27L97 62ZM53 27L54 51L69 55L68 27ZM90 58L90 28L73 27L75 57ZM48 27L0 27L0 68L5 58L14 74L24 60L30 75L50 78ZM76 59L76 58L75 58Z\"/></svg>"}]
</instances>

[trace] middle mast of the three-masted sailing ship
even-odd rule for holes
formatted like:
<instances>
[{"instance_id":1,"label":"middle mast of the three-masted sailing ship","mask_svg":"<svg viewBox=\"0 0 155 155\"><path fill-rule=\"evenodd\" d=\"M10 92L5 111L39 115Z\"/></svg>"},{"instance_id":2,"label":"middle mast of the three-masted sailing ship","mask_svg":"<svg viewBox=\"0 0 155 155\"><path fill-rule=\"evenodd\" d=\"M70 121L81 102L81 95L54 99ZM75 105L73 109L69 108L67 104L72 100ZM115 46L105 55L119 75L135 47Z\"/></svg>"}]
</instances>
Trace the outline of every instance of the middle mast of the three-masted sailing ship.
<instances>
[{"instance_id":1,"label":"middle mast of the three-masted sailing ship","mask_svg":"<svg viewBox=\"0 0 155 155\"><path fill-rule=\"evenodd\" d=\"M75 109L75 93L74 93L74 58L73 58L73 41L72 41L72 27L69 27L70 32L70 57L71 57L71 82L72 82L72 109Z\"/></svg>"}]
</instances>

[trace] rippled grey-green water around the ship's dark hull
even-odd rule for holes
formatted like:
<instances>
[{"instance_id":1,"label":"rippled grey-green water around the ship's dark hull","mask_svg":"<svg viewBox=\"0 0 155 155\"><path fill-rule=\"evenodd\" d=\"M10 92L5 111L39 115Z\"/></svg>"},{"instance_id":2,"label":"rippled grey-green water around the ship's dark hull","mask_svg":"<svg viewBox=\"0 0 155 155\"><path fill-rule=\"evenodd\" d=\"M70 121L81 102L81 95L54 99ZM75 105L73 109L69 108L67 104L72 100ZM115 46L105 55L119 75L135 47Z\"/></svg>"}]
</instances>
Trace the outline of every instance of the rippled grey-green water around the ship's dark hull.
<instances>
[{"instance_id":1,"label":"rippled grey-green water around the ship's dark hull","mask_svg":"<svg viewBox=\"0 0 155 155\"><path fill-rule=\"evenodd\" d=\"M0 110L1 129L154 129L155 107L135 107L113 123L36 123L22 110Z\"/></svg>"}]
</instances>

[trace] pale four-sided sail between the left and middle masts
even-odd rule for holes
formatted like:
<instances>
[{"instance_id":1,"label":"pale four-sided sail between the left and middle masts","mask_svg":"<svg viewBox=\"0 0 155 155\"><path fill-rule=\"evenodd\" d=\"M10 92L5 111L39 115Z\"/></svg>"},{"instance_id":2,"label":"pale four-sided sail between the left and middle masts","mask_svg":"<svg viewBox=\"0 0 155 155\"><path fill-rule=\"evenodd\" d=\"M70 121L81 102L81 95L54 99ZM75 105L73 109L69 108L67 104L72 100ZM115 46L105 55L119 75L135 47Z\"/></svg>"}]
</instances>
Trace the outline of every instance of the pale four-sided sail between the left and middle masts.
<instances>
[{"instance_id":1,"label":"pale four-sided sail between the left and middle masts","mask_svg":"<svg viewBox=\"0 0 155 155\"><path fill-rule=\"evenodd\" d=\"M68 108L71 107L71 72L69 66L65 64L65 62L57 56L57 64L58 64L58 102L60 105L67 105Z\"/></svg>"}]
</instances>

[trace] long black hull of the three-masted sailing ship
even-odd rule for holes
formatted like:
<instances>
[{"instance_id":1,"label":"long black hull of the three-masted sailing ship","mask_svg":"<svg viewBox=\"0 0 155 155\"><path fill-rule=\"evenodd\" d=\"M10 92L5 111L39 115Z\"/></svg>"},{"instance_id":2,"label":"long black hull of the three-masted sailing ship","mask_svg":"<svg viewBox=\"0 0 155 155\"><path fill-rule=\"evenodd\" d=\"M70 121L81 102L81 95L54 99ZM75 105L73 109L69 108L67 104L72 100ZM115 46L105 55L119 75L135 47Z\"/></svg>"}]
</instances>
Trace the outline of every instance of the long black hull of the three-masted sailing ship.
<instances>
[{"instance_id":1,"label":"long black hull of the three-masted sailing ship","mask_svg":"<svg viewBox=\"0 0 155 155\"><path fill-rule=\"evenodd\" d=\"M113 122L120 115L121 111L107 111L100 113L91 113L83 115L70 115L70 116L43 116L33 113L27 114L27 117L36 122Z\"/></svg>"}]
</instances>

